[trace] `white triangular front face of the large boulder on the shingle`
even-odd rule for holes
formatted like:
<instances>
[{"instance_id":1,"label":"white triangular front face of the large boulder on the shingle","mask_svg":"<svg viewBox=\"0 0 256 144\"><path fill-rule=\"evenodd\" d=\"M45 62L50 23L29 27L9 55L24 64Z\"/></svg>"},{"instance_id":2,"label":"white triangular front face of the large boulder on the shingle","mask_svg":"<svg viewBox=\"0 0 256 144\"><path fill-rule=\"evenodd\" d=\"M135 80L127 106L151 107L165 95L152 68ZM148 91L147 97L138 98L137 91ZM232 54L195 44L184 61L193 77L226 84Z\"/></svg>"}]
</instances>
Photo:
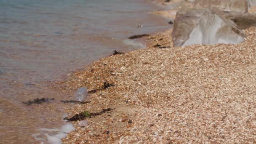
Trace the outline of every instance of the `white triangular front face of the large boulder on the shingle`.
<instances>
[{"instance_id":1,"label":"white triangular front face of the large boulder on the shingle","mask_svg":"<svg viewBox=\"0 0 256 144\"><path fill-rule=\"evenodd\" d=\"M244 41L245 34L236 24L221 16L216 8L205 9L199 23L189 34L182 46L193 44L238 44Z\"/></svg>"}]
</instances>

